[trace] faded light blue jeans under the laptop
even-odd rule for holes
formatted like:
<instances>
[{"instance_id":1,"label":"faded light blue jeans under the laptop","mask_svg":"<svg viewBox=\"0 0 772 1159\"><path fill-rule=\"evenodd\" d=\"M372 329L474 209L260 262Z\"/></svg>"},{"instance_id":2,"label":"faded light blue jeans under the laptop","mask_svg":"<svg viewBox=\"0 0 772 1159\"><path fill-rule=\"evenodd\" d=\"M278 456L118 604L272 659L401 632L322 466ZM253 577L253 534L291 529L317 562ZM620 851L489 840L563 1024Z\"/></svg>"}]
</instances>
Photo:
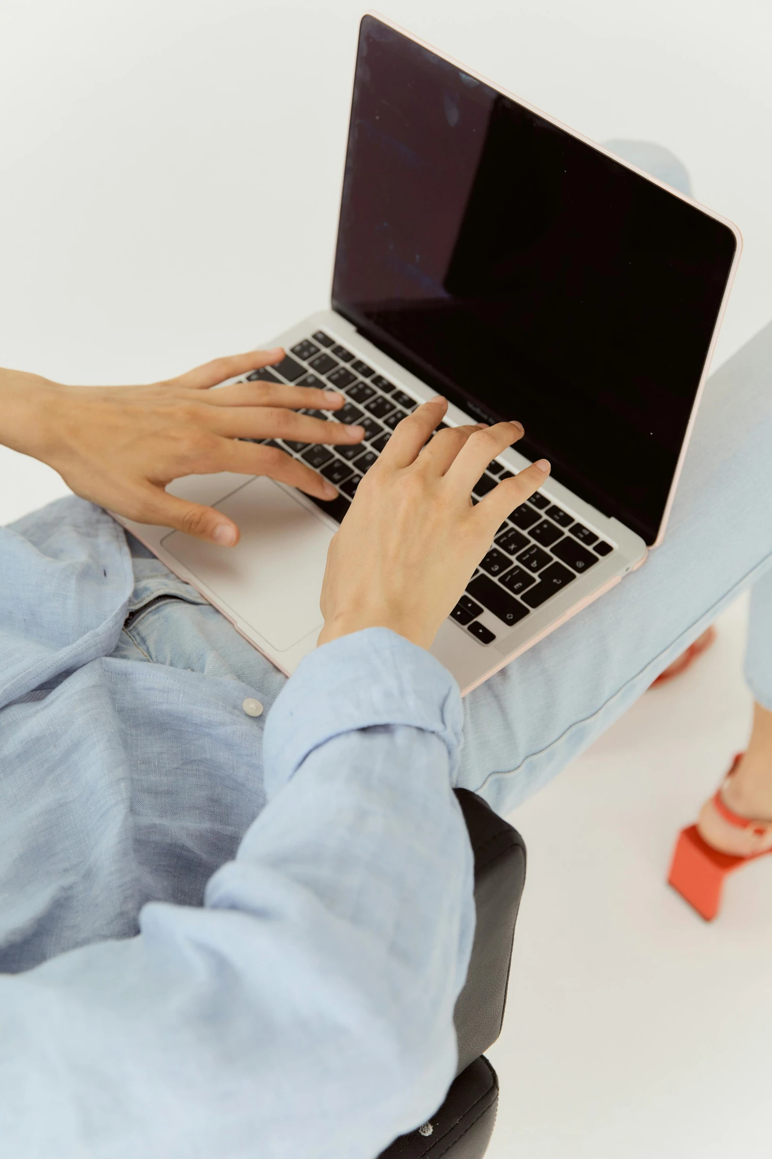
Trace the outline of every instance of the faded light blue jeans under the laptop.
<instances>
[{"instance_id":1,"label":"faded light blue jeans under the laptop","mask_svg":"<svg viewBox=\"0 0 772 1159\"><path fill-rule=\"evenodd\" d=\"M609 147L690 191L672 154ZM708 380L662 547L465 700L458 783L506 814L619 717L752 585L745 679L772 709L772 325ZM231 675L266 708L284 677L130 537L138 586L118 654ZM159 595L179 595L149 604Z\"/></svg>"}]
</instances>

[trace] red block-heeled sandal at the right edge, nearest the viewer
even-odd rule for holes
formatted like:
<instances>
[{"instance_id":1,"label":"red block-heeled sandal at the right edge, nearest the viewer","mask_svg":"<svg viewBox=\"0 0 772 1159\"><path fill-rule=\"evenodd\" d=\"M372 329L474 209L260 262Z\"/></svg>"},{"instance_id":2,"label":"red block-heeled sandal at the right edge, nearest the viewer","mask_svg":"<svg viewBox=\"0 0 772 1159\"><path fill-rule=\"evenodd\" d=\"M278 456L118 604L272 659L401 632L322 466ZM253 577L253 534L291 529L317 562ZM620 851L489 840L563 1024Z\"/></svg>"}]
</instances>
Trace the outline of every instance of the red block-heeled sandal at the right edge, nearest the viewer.
<instances>
[{"instance_id":1,"label":"red block-heeled sandal at the right edge, nearest the viewer","mask_svg":"<svg viewBox=\"0 0 772 1159\"><path fill-rule=\"evenodd\" d=\"M728 808L721 796L723 785L733 775L742 752L738 752L731 763L731 768L727 773L723 783L719 787L715 796L705 803L700 817L714 810L725 822L737 830L743 831L737 844L748 848L747 853L721 853L705 841L697 825L690 825L678 834L676 848L672 854L668 883L676 889L689 904L697 910L706 921L712 921L719 912L721 905L721 890L723 879L738 869L740 866L756 861L767 853L772 853L772 822L752 821L741 817Z\"/></svg>"}]
</instances>

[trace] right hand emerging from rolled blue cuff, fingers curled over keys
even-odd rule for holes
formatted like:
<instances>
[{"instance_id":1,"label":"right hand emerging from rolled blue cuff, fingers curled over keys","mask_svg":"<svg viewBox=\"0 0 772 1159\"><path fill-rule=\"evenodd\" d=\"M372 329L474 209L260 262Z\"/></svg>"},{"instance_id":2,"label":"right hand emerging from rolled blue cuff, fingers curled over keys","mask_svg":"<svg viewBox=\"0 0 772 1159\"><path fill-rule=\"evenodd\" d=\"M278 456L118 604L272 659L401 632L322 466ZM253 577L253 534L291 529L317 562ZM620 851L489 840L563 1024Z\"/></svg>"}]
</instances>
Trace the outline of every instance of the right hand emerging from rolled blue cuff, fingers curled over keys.
<instances>
[{"instance_id":1,"label":"right hand emerging from rolled blue cuff, fingers curled over keys","mask_svg":"<svg viewBox=\"0 0 772 1159\"><path fill-rule=\"evenodd\" d=\"M472 487L523 428L448 428L427 443L447 406L435 398L403 418L359 484L330 544L319 644L383 627L428 648L499 525L547 478L539 459L472 504Z\"/></svg>"}]
</instances>

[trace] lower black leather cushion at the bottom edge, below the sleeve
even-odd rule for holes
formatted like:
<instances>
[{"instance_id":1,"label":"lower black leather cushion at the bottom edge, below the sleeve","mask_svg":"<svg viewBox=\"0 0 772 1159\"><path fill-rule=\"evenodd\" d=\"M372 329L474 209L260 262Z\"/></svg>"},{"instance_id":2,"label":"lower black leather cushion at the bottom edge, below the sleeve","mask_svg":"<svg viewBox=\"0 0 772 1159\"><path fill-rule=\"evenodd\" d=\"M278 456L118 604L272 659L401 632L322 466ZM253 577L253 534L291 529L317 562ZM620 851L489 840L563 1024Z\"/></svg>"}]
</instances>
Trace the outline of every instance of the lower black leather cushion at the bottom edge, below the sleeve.
<instances>
[{"instance_id":1,"label":"lower black leather cushion at the bottom edge, below the sleeve","mask_svg":"<svg viewBox=\"0 0 772 1159\"><path fill-rule=\"evenodd\" d=\"M481 1159L493 1134L499 1080L487 1058L476 1058L454 1080L428 1123L400 1135L378 1159Z\"/></svg>"}]
</instances>

